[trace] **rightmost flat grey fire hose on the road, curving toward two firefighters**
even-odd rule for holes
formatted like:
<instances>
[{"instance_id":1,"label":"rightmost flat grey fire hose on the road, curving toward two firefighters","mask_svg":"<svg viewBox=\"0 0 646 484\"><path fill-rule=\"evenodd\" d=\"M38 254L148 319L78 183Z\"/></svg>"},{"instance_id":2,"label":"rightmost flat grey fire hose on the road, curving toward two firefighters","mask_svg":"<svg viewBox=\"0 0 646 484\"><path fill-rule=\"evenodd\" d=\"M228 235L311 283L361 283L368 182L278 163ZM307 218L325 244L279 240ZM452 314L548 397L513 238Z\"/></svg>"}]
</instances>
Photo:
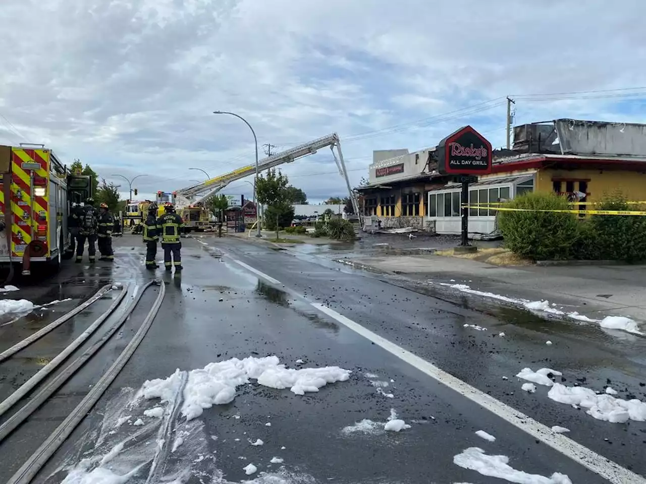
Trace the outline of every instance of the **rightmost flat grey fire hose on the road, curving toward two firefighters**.
<instances>
[{"instance_id":1,"label":"rightmost flat grey fire hose on the road, curving toward two firefighters","mask_svg":"<svg viewBox=\"0 0 646 484\"><path fill-rule=\"evenodd\" d=\"M132 310L134 310L134 307L137 305L145 289L150 287L152 284L159 285L160 292L157 295L157 298L155 299L151 310L148 312L145 319L143 319L141 327L130 340L130 343L128 343L128 345L123 348L123 351L114 361L114 363L112 363L112 366L109 368L109 370L107 370L107 372L105 372L101 379L99 379L96 385L92 387L85 398L81 400L81 403L79 403L76 408L72 410L72 412L67 416L63 423L61 423L61 425L59 425L57 429L52 432L52 434L36 450L36 452L34 452L34 454L32 454L30 458L27 459L27 461L21 466L21 468L17 470L16 474L14 474L11 479L9 479L7 484L30 483L32 479L36 477L36 474L38 474L39 470L41 470L41 468L47 463L47 461L54 455L54 452L56 452L56 450L61 447L65 439L67 439L70 434L72 434L72 431L76 429L76 426L81 423L86 414L92 409L92 407L94 407L94 405L96 405L96 403L99 401L99 398L101 398L105 390L107 390L107 388L110 386L110 383L114 381L119 372L123 369L123 367L125 367L125 364L134 353L134 350L137 349L137 347L141 343L141 340L144 336L146 336L146 333L151 327L152 321L159 311L161 301L163 301L163 297L166 292L166 288L163 282L149 282L138 294L138 297L134 301L132 301L129 310L127 310L127 313L130 313L132 312Z\"/></svg>"}]
</instances>

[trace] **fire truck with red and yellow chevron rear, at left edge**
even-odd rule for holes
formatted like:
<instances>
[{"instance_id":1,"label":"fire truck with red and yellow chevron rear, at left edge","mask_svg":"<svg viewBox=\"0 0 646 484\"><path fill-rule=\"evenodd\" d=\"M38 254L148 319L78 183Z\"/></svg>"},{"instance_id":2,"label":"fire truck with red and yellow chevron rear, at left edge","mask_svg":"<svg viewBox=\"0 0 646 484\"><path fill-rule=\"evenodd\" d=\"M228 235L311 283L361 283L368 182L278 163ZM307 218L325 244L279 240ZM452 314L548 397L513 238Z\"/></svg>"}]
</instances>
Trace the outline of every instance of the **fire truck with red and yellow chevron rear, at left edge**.
<instances>
[{"instance_id":1,"label":"fire truck with red and yellow chevron rear, at left edge","mask_svg":"<svg viewBox=\"0 0 646 484\"><path fill-rule=\"evenodd\" d=\"M0 145L0 263L32 262L58 270L70 246L72 203L92 196L89 176L71 174L45 145ZM12 272L11 272L12 274Z\"/></svg>"}]
</instances>

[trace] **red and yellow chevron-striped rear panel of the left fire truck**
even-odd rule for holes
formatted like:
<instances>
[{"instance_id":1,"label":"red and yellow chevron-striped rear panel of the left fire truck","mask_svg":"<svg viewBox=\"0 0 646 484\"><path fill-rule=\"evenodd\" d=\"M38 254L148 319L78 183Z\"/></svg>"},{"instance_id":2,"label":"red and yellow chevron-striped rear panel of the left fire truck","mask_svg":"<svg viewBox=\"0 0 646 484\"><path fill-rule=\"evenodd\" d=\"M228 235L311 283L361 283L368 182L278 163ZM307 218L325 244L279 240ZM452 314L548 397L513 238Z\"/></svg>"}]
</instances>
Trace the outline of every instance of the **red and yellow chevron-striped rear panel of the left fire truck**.
<instances>
[{"instance_id":1,"label":"red and yellow chevron-striped rear panel of the left fire truck","mask_svg":"<svg viewBox=\"0 0 646 484\"><path fill-rule=\"evenodd\" d=\"M11 212L12 224L12 254L22 257L25 248L34 238L37 227L49 229L49 159L50 151L46 149L12 148L12 183L11 183ZM44 180L43 196L32 194L31 173L34 177ZM34 190L35 191L35 190ZM0 191L0 209L5 211L5 194ZM32 206L34 210L32 212ZM48 247L49 251L49 247ZM45 254L49 256L49 252Z\"/></svg>"}]
</instances>

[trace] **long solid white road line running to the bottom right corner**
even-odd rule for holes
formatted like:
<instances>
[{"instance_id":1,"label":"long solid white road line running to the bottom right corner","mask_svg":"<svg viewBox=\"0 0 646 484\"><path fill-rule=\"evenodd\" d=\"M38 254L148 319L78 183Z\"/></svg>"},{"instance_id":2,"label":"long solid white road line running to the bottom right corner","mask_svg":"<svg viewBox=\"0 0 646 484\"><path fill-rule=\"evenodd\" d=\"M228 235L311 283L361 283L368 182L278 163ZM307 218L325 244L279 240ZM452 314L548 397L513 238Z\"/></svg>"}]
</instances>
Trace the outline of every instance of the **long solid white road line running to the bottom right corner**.
<instances>
[{"instance_id":1,"label":"long solid white road line running to the bottom right corner","mask_svg":"<svg viewBox=\"0 0 646 484\"><path fill-rule=\"evenodd\" d=\"M248 266L245 265L245 267ZM254 270L254 272L257 271ZM567 438L563 434L553 432L552 429L546 425L526 416L522 412L515 410L509 405L506 405L506 403L495 399L485 392L481 392L461 379L455 378L455 376L448 374L441 368L436 367L425 359L419 358L419 356L416 356L408 350L404 350L404 348L399 345L395 345L395 343L388 341L388 339L382 338L378 334L362 327L359 323L355 323L355 321L346 318L326 305L320 303L310 304L320 312L326 314L332 319L335 319L335 321L370 340L372 343L375 343L375 345L384 348L384 350L397 356L397 358L402 359L402 361L412 365L439 383L446 385L446 387L455 390L461 396L474 401L483 408L486 408L486 410L489 410L508 423L511 423L514 427L517 427L517 429L523 430L523 432L539 439L557 452L560 452L564 456L567 456L573 461L583 465L586 469L591 470L595 474L599 474L599 476L607 479L609 482L613 484L646 484L646 479L638 476L638 474L621 467L618 463L610 461L596 452L592 452L592 450L588 449L584 445Z\"/></svg>"}]
</instances>

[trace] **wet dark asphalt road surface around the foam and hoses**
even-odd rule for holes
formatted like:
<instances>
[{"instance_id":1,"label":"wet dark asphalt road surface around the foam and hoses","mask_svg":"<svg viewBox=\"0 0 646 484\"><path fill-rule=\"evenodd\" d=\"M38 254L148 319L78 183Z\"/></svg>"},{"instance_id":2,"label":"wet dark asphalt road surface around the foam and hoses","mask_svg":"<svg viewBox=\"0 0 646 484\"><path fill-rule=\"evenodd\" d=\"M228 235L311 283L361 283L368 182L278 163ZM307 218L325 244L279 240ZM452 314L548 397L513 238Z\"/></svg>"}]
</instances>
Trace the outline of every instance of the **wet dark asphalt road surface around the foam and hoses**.
<instances>
[{"instance_id":1,"label":"wet dark asphalt road surface around the foam and hoses","mask_svg":"<svg viewBox=\"0 0 646 484\"><path fill-rule=\"evenodd\" d=\"M47 299L53 296L53 288L59 291L54 299L76 294L75 301L56 307L62 314L94 293L103 281L140 285L152 277L141 266L143 247L138 238L115 239L115 245L118 261L114 267L107 263L96 267L66 265L59 276L47 282L51 286L48 290L25 288L19 297L29 299L32 294ZM189 482L200 478L219 482L213 476L220 475L239 482L249 479L243 467L254 463L259 472L282 472L293 482L308 482L308 478L341 483L501 482L453 464L453 456L464 449L481 447L488 454L508 456L512 467L525 472L543 476L561 472L573 483L604 482L511 423L371 344L311 303L332 308L548 427L568 427L572 439L634 472L646 473L641 459L646 448L644 423L597 421L583 410L550 401L545 387L536 394L523 392L522 382L514 377L526 366L535 370L550 367L563 372L567 385L585 378L581 384L603 390L609 380L621 398L633 394L644 400L645 388L640 383L645 381L646 371L643 340L639 338L610 340L590 328L547 322L519 310L483 307L467 297L452 299L454 296L429 292L427 287L403 279L336 265L306 250L277 251L239 239L205 236L184 239L182 252L185 271L181 276L158 272L167 284L167 293L143 343L39 481L59 482L67 473L60 470L61 466L105 455L116 443L138 432L139 427L132 424L155 402L136 399L136 390L146 379L166 378L176 368L191 370L223 359L275 354L290 368L298 367L296 361L302 359L303 367L338 365L353 373L349 381L305 396L256 384L239 387L232 403L208 408L191 425L178 427L178 432L187 432L187 443L168 459L169 474L171 469L191 469ZM280 283L267 282L236 261ZM0 445L0 454L10 456L7 461L11 462L0 469L0 481L6 481L19 466L21 456L35 450L38 436L42 439L54 430L89 385L105 372L141 323L154 296L147 294L142 299L141 308L119 337L65 385L56 402L41 408L13 440ZM42 361L39 358L52 358L75 338L91 323L92 316L105 310L109 299L96 303L92 314L74 318L69 327L63 325L37 343L39 346L17 355L23 359L0 364L2 397L37 370ZM12 323L9 332L0 332L2 348L56 316L39 318L37 322L34 316L23 318ZM464 324L477 324L488 331L475 331ZM501 331L505 338L497 336ZM554 344L546 346L547 339ZM379 391L375 385L384 383L378 381L388 384L383 390L393 398ZM343 430L362 419L385 422L391 409L412 428L393 433L377 427L368 434ZM131 418L116 428L120 416ZM147 421L141 429L153 424ZM485 441L475 436L477 430L485 430L497 440ZM250 445L248 439L258 438L264 445ZM145 455L141 449L123 451L121 458L135 463ZM283 463L271 463L274 457L284 459ZM123 465L117 459L114 462ZM196 475L200 472L202 476ZM134 476L132 481L145 481L145 474Z\"/></svg>"}]
</instances>

